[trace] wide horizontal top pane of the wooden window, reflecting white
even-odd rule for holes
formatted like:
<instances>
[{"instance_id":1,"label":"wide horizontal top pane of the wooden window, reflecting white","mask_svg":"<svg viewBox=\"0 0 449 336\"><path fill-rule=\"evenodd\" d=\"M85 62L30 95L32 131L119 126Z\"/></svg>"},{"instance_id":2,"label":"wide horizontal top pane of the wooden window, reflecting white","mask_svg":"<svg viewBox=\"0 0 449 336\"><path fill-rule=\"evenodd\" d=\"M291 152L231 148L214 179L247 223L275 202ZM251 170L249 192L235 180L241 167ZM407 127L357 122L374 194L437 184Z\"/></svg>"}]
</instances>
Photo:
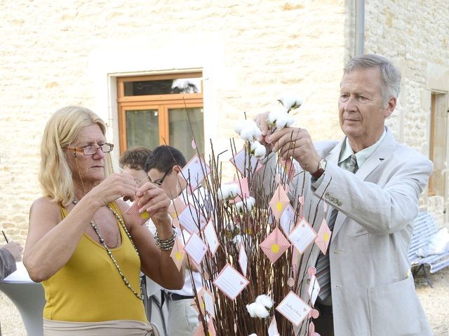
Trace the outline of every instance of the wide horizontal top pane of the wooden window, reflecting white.
<instances>
[{"instance_id":1,"label":"wide horizontal top pane of the wooden window, reflecting white","mask_svg":"<svg viewBox=\"0 0 449 336\"><path fill-rule=\"evenodd\" d=\"M201 93L201 78L174 78L125 82L125 96Z\"/></svg>"}]
</instances>

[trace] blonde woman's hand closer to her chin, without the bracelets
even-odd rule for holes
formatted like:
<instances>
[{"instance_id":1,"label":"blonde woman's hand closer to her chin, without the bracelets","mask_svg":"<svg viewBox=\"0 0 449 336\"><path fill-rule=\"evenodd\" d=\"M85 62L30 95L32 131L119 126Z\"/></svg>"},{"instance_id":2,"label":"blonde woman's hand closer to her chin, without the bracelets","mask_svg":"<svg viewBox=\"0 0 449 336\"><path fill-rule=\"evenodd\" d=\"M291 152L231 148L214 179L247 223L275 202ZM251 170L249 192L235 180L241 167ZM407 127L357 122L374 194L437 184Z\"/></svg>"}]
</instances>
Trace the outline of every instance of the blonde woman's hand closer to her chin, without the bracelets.
<instances>
[{"instance_id":1,"label":"blonde woman's hand closer to her chin, without the bracelets","mask_svg":"<svg viewBox=\"0 0 449 336\"><path fill-rule=\"evenodd\" d=\"M105 207L120 197L135 197L136 183L128 173L112 174L107 176L98 186L95 186L87 195L100 201L100 207Z\"/></svg>"}]
</instances>

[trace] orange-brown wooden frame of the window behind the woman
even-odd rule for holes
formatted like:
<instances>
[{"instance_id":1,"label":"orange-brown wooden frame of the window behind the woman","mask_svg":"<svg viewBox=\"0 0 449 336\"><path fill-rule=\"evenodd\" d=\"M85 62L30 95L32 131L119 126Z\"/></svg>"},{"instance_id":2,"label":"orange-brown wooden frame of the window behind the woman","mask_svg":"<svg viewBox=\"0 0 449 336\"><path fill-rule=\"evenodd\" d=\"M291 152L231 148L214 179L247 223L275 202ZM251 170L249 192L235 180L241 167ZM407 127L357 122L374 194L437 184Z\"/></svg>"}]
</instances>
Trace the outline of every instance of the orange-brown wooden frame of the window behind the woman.
<instances>
[{"instance_id":1,"label":"orange-brown wooden frame of the window behind the woman","mask_svg":"<svg viewBox=\"0 0 449 336\"><path fill-rule=\"evenodd\" d=\"M152 94L140 96L125 96L125 83L144 80L164 80L178 78L202 78L201 72L166 73L147 76L128 76L117 78L117 111L119 113L119 147L120 155L126 151L126 111L156 110L159 121L159 145L170 144L168 132L168 110L183 108L203 108L203 82L201 93Z\"/></svg>"}]
</instances>

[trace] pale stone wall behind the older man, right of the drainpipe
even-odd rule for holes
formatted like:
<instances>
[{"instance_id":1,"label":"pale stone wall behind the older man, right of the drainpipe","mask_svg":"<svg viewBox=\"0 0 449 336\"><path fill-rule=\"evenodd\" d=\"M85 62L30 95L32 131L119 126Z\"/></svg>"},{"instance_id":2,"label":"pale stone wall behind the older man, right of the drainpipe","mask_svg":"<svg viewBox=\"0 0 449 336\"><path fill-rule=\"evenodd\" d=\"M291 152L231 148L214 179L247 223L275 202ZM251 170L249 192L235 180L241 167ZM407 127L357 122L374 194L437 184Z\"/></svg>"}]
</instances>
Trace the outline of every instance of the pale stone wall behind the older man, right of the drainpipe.
<instances>
[{"instance_id":1,"label":"pale stone wall behind the older man, right of the drainpipe","mask_svg":"<svg viewBox=\"0 0 449 336\"><path fill-rule=\"evenodd\" d=\"M349 1L352 2L352 1ZM449 3L448 1L366 1L366 52L393 59L403 74L398 108L387 120L396 138L424 155L430 151L431 92L445 94L444 118L447 120L449 92ZM441 111L443 108L441 109ZM442 125L441 119L437 124ZM438 130L436 195L429 196L423 210L431 211L438 221L448 206L447 125ZM441 137L445 137L442 146ZM436 165L438 166L438 165ZM429 205L427 207L427 204Z\"/></svg>"}]
</instances>

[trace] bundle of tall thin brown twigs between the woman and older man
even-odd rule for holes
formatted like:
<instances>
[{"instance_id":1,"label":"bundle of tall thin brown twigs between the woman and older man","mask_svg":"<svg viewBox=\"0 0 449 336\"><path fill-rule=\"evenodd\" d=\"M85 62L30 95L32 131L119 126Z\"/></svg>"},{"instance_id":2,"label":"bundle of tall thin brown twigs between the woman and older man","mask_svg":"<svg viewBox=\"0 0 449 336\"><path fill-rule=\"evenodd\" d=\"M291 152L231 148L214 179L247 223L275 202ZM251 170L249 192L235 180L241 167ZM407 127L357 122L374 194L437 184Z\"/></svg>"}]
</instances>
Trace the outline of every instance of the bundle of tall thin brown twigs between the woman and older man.
<instances>
[{"instance_id":1,"label":"bundle of tall thin brown twigs between the woman and older man","mask_svg":"<svg viewBox=\"0 0 449 336\"><path fill-rule=\"evenodd\" d=\"M246 141L243 148L248 153L244 162L246 169L236 168L234 181L239 181L237 182L239 185L244 181L241 179L246 179L253 200L240 194L232 194L232 197L223 199L222 186L225 182L232 181L223 181L222 160L220 160L222 153L215 155L213 144L210 142L210 157L208 160L202 157L203 162L208 162L208 169L210 169L210 173L203 180L206 197L199 197L199 194L192 193L190 205L187 205L188 207L193 205L194 208L199 210L198 213L191 211L192 216L197 217L197 223L200 221L200 215L213 222L219 243L217 251L214 254L210 251L206 253L201 265L199 265L203 276L203 288L201 290L195 288L193 283L194 302L192 304L199 311L200 321L199 329L196 330L195 335L267 335L273 317L276 319L279 335L295 335L293 323L288 321L275 308L290 291L300 293L302 286L306 286L308 274L298 274L298 270L301 269L302 262L308 261L310 255L309 253L300 255L291 245L276 262L272 262L262 251L261 244L271 232L280 228L279 220L274 218L272 209L269 207L269 202L279 186L288 191L290 204L293 204L295 213L294 223L303 218L304 204L306 203L301 199L306 176L302 171L294 172L284 169L286 163L279 162L279 160L276 162L276 170L267 169L267 166L255 167L253 161L250 160L251 149L250 141ZM230 141L230 150L235 157L238 151L236 151L234 141ZM199 153L197 155L200 156ZM203 172L207 173L206 167ZM292 174L295 174L295 176L292 176ZM189 183L193 176L183 177ZM289 181L293 177L302 181L302 183L297 184L302 188L288 190ZM239 190L243 189L243 186L239 186ZM298 200L300 201L298 202ZM237 202L241 202L239 207L236 206ZM316 216L316 211L307 212L314 214L314 217ZM316 218L305 219L313 226ZM198 229L199 237L206 241L200 226ZM246 252L248 258L247 269L242 269L239 263L241 248ZM297 257L298 255L299 257ZM243 288L234 300L225 295L213 283L227 264L246 276L249 281L248 286ZM215 318L212 317L210 311L205 309L206 302L201 295L203 290L208 290L213 295ZM248 304L255 302L259 295L267 295L272 300L272 307L266 308L267 317L265 318L251 317L248 312ZM312 305L310 297L302 297L302 300ZM311 317L304 318L299 328L308 330L309 321L311 321Z\"/></svg>"}]
</instances>

